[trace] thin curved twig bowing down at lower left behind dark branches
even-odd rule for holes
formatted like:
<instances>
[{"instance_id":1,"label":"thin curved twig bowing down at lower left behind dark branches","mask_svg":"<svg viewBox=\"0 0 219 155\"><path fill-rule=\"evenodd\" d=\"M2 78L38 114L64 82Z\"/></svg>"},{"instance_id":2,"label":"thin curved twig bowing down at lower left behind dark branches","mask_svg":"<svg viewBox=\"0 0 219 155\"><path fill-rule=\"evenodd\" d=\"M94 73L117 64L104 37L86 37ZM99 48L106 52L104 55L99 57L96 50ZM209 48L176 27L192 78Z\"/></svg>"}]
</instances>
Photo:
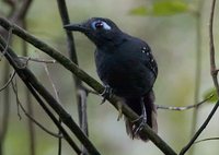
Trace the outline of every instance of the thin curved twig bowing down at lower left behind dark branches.
<instances>
[{"instance_id":1,"label":"thin curved twig bowing down at lower left behind dark branches","mask_svg":"<svg viewBox=\"0 0 219 155\"><path fill-rule=\"evenodd\" d=\"M16 83L16 82L15 82ZM14 84L13 82L11 83L12 84L12 90L16 96L16 98L19 98L19 94L18 94L18 86L16 84ZM43 124L41 124L37 120L35 120L31 115L28 115L28 112L26 112L25 108L23 107L23 105L21 104L20 99L18 99L18 104L19 106L21 107L22 111L24 112L24 115L31 119L36 126L38 126L43 131L45 131L46 133L55 136L55 138L62 138L62 135L59 135L59 134L56 134L51 131L49 131L48 129L46 129Z\"/></svg>"}]
</instances>

